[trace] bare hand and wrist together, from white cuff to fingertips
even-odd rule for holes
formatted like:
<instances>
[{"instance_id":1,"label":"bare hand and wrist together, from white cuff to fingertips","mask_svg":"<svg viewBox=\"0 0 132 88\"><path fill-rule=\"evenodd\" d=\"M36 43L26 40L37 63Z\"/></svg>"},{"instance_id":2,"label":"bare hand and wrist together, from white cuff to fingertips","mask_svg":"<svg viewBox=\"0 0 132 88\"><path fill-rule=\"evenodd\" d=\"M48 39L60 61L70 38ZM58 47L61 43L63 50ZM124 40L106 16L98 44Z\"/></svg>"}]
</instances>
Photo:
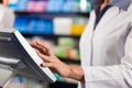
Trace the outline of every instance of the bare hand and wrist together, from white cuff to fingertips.
<instances>
[{"instance_id":1,"label":"bare hand and wrist together, from white cuff to fingertips","mask_svg":"<svg viewBox=\"0 0 132 88\"><path fill-rule=\"evenodd\" d=\"M48 67L52 72L57 73L62 77L84 81L84 72L80 66L69 66L61 62L54 55L52 48L42 41L37 41L31 45L38 51L37 54L43 59L43 67Z\"/></svg>"}]
</instances>

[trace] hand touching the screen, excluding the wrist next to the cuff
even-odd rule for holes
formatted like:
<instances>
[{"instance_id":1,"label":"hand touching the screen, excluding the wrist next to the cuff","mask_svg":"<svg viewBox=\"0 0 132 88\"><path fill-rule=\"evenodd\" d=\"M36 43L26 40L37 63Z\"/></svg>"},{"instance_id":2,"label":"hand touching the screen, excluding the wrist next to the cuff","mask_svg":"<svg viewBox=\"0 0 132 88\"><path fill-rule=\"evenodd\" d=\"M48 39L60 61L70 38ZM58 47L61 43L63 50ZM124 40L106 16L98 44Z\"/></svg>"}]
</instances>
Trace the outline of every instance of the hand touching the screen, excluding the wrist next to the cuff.
<instances>
[{"instance_id":1,"label":"hand touching the screen, excluding the wrist next to the cuff","mask_svg":"<svg viewBox=\"0 0 132 88\"><path fill-rule=\"evenodd\" d=\"M70 67L61 62L53 53L52 48L42 41L37 41L31 44L36 48L38 56L43 59L41 66L50 67L52 72L59 74L63 77L68 77Z\"/></svg>"}]
</instances>

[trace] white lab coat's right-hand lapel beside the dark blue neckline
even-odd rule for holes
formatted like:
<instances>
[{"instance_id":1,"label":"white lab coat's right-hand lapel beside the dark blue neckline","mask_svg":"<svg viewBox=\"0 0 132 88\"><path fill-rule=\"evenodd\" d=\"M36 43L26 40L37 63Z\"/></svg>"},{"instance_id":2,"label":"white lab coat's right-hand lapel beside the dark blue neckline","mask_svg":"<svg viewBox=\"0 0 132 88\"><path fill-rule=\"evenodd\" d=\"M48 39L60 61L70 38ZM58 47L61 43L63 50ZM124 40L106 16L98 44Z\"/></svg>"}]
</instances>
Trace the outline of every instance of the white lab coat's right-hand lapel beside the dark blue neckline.
<instances>
[{"instance_id":1,"label":"white lab coat's right-hand lapel beside the dark blue neckline","mask_svg":"<svg viewBox=\"0 0 132 88\"><path fill-rule=\"evenodd\" d=\"M109 25L109 22L113 21L114 18L119 14L119 8L112 7L108 9L108 11L103 14L97 28L95 29L95 33L97 34L100 30L103 30L105 26Z\"/></svg>"}]
</instances>

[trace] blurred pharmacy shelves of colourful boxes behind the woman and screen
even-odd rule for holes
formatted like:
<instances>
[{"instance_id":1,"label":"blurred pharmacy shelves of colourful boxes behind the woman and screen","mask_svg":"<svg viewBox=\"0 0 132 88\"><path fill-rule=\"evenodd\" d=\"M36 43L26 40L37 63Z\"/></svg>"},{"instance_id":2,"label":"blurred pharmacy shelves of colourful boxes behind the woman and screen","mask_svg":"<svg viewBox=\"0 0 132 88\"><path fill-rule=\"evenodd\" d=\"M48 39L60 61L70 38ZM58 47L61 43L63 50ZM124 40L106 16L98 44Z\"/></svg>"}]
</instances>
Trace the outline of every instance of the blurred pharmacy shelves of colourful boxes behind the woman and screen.
<instances>
[{"instance_id":1,"label":"blurred pharmacy shelves of colourful boxes behind the woman and screen","mask_svg":"<svg viewBox=\"0 0 132 88\"><path fill-rule=\"evenodd\" d=\"M3 0L14 11L13 28L33 42L45 41L55 55L70 65L79 65L79 38L88 24L90 0ZM15 76L8 88L77 88L77 80L55 74L54 84Z\"/></svg>"}]
</instances>

